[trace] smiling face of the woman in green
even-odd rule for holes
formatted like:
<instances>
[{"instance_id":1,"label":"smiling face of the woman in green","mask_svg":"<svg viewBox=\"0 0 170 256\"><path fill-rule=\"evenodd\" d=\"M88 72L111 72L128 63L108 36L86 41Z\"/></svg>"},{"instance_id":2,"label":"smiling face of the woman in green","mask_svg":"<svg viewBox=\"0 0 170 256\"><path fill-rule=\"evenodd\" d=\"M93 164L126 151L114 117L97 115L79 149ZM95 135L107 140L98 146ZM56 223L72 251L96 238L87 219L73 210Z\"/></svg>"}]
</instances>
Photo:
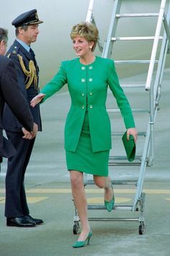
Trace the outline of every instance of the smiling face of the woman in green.
<instances>
[{"instance_id":1,"label":"smiling face of the woman in green","mask_svg":"<svg viewBox=\"0 0 170 256\"><path fill-rule=\"evenodd\" d=\"M73 48L76 51L76 56L84 57L91 53L93 42L89 42L86 38L77 35L73 38Z\"/></svg>"}]
</instances>

